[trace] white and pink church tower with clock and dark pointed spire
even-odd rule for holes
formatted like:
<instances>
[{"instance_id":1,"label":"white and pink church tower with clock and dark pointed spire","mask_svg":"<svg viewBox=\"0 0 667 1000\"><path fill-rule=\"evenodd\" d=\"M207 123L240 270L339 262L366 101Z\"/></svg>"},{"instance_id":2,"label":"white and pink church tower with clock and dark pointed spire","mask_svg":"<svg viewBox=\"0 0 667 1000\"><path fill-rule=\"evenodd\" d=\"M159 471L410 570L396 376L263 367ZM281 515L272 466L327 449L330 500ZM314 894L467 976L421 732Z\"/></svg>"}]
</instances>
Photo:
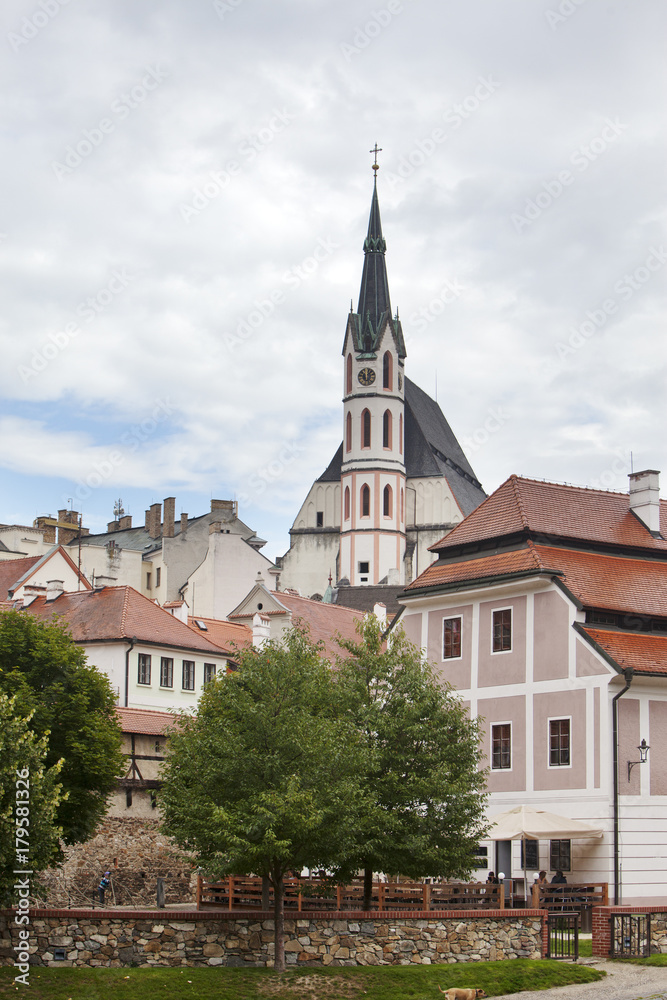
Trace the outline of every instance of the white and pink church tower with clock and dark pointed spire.
<instances>
[{"instance_id":1,"label":"white and pink church tower with clock and dark pointed spire","mask_svg":"<svg viewBox=\"0 0 667 1000\"><path fill-rule=\"evenodd\" d=\"M351 586L405 583L405 341L391 315L373 164L373 197L356 313L343 343L339 576Z\"/></svg>"}]
</instances>

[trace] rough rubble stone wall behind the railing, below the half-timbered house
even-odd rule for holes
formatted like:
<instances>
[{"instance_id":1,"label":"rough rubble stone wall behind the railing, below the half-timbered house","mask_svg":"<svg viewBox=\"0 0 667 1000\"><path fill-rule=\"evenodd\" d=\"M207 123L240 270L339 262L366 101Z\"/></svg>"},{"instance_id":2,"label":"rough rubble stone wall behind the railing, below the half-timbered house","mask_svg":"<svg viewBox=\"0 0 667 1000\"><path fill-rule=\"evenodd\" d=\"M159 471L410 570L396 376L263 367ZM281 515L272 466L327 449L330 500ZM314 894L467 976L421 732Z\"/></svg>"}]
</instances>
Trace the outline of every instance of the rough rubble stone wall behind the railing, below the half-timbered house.
<instances>
[{"instance_id":1,"label":"rough rubble stone wall behind the railing, below the half-timbered house","mask_svg":"<svg viewBox=\"0 0 667 1000\"><path fill-rule=\"evenodd\" d=\"M107 816L96 835L65 848L61 868L51 869L35 886L43 906L91 906L94 889L111 872L107 901L122 906L154 906L157 879L165 879L167 904L194 903L194 862L158 829L158 819Z\"/></svg>"}]
</instances>

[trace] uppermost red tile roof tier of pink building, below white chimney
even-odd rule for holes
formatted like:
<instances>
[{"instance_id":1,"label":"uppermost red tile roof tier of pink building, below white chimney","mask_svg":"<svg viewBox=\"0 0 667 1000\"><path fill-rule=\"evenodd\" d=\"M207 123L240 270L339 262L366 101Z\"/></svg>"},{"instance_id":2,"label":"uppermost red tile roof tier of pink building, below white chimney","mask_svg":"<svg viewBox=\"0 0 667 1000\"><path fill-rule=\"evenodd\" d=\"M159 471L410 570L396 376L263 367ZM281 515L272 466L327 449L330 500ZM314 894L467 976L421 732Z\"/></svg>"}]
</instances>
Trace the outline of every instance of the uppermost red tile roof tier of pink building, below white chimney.
<instances>
[{"instance_id":1,"label":"uppermost red tile roof tier of pink building, below white chimney","mask_svg":"<svg viewBox=\"0 0 667 1000\"><path fill-rule=\"evenodd\" d=\"M662 533L667 536L667 501L661 500L660 506ZM543 483L519 476L510 476L431 549L443 552L521 531L667 552L667 540L654 538L630 513L627 493Z\"/></svg>"}]
</instances>

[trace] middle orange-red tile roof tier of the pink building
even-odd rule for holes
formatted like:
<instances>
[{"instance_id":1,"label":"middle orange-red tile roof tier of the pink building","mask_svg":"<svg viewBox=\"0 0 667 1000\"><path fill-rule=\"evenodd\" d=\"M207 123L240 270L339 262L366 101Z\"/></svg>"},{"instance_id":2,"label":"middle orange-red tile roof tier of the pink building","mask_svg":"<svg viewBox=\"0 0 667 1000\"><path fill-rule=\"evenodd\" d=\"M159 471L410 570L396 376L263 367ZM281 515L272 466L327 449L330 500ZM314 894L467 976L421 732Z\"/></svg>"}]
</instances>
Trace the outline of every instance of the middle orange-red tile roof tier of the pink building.
<instances>
[{"instance_id":1,"label":"middle orange-red tile roof tier of the pink building","mask_svg":"<svg viewBox=\"0 0 667 1000\"><path fill-rule=\"evenodd\" d=\"M667 561L536 545L473 559L435 562L409 587L447 587L506 574L553 573L588 608L667 617Z\"/></svg>"}]
</instances>

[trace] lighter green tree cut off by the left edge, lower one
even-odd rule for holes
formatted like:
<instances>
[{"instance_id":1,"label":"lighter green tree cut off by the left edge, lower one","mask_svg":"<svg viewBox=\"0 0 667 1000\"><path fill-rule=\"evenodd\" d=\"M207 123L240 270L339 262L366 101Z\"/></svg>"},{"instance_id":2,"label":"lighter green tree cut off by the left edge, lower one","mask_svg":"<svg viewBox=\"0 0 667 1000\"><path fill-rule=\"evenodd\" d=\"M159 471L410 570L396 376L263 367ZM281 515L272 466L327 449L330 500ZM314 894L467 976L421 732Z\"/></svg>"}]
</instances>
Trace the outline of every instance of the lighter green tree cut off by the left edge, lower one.
<instances>
[{"instance_id":1,"label":"lighter green tree cut off by the left edge, lower one","mask_svg":"<svg viewBox=\"0 0 667 1000\"><path fill-rule=\"evenodd\" d=\"M30 722L0 692L0 906L17 901L16 870L43 871L59 850L61 765L46 765L48 737L36 736Z\"/></svg>"}]
</instances>

